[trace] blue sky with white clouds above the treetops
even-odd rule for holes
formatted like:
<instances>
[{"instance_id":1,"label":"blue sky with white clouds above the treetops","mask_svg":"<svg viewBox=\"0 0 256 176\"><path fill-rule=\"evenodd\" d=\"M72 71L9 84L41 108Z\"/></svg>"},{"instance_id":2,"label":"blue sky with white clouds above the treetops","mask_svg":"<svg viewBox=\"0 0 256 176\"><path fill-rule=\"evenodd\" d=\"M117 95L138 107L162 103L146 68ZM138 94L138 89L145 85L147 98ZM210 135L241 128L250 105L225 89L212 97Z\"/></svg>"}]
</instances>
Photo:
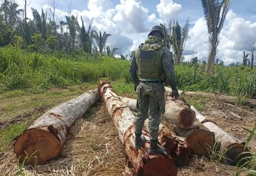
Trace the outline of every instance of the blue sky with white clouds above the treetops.
<instances>
[{"instance_id":1,"label":"blue sky with white clouds above the treetops","mask_svg":"<svg viewBox=\"0 0 256 176\"><path fill-rule=\"evenodd\" d=\"M20 7L24 6L24 0L13 1ZM51 0L49 3L48 0L27 1L28 18L31 19L30 7L47 11L51 6ZM65 20L71 0L57 0L57 3L57 14ZM189 36L183 52L185 61L191 60L192 53L199 60L207 61L209 35L200 0L72 0L71 13L78 17L79 23L82 16L85 27L94 18L93 29L111 34L107 44L119 48L117 55L130 55L140 43L144 43L154 25L163 21L168 24L170 19L175 19L183 27L189 17ZM232 0L220 33L216 59L224 61L225 65L241 62L243 51L251 53L255 42L256 0Z\"/></svg>"}]
</instances>

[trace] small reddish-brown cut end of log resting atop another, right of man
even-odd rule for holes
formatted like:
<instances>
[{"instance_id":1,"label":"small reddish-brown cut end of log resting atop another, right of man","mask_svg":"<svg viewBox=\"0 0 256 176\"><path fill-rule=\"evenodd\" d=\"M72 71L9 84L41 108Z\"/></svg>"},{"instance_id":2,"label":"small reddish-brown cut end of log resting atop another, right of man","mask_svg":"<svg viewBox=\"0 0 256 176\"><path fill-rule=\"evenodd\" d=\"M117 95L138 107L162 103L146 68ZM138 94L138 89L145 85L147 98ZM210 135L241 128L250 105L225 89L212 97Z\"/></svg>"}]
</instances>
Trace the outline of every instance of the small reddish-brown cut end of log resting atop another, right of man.
<instances>
[{"instance_id":1,"label":"small reddish-brown cut end of log resting atop another, right of man","mask_svg":"<svg viewBox=\"0 0 256 176\"><path fill-rule=\"evenodd\" d=\"M180 122L183 125L183 128L188 128L193 125L195 122L195 112L191 109L185 108L181 110L180 113Z\"/></svg>"}]
</instances>

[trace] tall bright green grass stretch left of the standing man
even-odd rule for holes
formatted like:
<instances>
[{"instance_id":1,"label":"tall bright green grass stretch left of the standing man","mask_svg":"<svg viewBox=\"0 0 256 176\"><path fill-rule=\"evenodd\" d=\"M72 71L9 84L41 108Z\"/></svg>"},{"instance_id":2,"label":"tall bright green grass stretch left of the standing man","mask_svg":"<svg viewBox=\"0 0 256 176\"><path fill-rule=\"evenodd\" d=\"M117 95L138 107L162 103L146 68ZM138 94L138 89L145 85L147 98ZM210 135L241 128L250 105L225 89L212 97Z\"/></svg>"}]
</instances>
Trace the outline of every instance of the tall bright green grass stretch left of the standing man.
<instances>
[{"instance_id":1,"label":"tall bright green grass stretch left of the standing man","mask_svg":"<svg viewBox=\"0 0 256 176\"><path fill-rule=\"evenodd\" d=\"M93 82L102 77L110 80L129 78L128 61L105 56L90 56L88 59L84 55L75 61L65 56L61 58L54 54L28 53L10 46L0 48L0 89L14 90L33 86L45 89Z\"/></svg>"}]
</instances>

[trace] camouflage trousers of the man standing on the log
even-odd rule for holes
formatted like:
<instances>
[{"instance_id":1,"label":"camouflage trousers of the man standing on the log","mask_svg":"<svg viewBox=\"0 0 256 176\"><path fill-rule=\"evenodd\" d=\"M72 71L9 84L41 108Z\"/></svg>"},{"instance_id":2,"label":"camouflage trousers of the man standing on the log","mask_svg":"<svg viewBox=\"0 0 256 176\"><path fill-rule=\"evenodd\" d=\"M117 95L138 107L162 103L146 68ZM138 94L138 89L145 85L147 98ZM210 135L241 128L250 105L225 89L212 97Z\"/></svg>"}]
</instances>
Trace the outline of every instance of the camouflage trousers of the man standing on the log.
<instances>
[{"instance_id":1,"label":"camouflage trousers of the man standing on the log","mask_svg":"<svg viewBox=\"0 0 256 176\"><path fill-rule=\"evenodd\" d=\"M138 94L138 114L134 119L135 134L142 133L144 122L149 111L150 140L157 140L159 133L160 117L165 112L164 85L160 83L140 82L136 93Z\"/></svg>"}]
</instances>

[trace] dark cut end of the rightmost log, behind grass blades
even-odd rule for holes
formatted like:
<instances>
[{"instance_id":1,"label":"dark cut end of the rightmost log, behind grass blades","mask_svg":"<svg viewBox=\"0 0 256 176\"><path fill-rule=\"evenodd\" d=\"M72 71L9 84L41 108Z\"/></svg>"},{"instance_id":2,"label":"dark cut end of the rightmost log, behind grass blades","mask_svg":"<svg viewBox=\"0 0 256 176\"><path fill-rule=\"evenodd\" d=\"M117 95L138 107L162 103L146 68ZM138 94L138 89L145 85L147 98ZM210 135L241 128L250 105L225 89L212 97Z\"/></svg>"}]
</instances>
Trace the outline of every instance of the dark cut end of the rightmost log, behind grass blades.
<instances>
[{"instance_id":1,"label":"dark cut end of the rightmost log, behind grass blades","mask_svg":"<svg viewBox=\"0 0 256 176\"><path fill-rule=\"evenodd\" d=\"M248 160L243 158L251 157L252 155L241 154L242 152L249 152L249 149L245 148L244 144L231 144L228 147L228 151L224 155L224 163L233 166L236 166L237 164L238 166L245 164L245 162L247 162Z\"/></svg>"}]
</instances>

